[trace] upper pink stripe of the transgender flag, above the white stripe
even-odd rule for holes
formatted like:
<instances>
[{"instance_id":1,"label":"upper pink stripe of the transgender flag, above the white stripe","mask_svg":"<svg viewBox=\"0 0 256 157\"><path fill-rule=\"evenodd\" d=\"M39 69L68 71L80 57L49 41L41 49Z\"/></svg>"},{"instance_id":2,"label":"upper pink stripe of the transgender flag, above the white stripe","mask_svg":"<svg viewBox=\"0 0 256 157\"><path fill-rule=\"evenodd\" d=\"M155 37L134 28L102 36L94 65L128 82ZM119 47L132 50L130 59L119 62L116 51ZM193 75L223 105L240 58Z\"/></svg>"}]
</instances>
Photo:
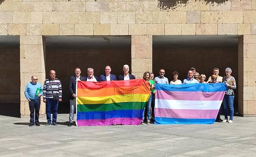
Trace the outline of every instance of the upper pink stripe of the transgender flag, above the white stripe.
<instances>
[{"instance_id":1,"label":"upper pink stripe of the transgender flag, above the white stripe","mask_svg":"<svg viewBox=\"0 0 256 157\"><path fill-rule=\"evenodd\" d=\"M196 100L196 101L211 101L211 100L222 100L225 91L222 92L177 92L177 91L166 91L157 90L156 99L167 99L167 100Z\"/></svg>"}]
</instances>

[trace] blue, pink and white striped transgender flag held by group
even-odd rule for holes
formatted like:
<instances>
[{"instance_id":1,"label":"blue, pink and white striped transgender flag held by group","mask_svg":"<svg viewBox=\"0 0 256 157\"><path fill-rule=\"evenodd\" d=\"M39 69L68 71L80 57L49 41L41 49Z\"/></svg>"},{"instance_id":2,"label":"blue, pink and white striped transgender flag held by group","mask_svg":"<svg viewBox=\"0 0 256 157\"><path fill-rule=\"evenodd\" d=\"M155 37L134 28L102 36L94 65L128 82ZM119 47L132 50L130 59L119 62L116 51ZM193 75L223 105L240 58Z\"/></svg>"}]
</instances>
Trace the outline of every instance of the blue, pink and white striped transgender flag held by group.
<instances>
[{"instance_id":1,"label":"blue, pink and white striped transgender flag held by group","mask_svg":"<svg viewBox=\"0 0 256 157\"><path fill-rule=\"evenodd\" d=\"M224 83L156 84L155 124L212 124L226 91Z\"/></svg>"}]
</instances>

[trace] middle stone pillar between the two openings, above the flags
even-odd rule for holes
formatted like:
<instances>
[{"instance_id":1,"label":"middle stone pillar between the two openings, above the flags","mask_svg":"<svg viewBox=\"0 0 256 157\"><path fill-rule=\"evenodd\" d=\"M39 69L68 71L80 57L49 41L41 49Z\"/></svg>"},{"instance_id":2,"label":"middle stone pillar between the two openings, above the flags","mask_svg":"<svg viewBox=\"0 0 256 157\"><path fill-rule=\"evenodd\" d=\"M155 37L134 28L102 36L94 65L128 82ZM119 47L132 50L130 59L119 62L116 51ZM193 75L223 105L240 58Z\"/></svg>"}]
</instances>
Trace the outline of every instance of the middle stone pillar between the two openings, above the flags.
<instances>
[{"instance_id":1,"label":"middle stone pillar between the two openings, above the flags","mask_svg":"<svg viewBox=\"0 0 256 157\"><path fill-rule=\"evenodd\" d=\"M131 70L137 78L142 78L144 72L152 72L152 36L132 35Z\"/></svg>"}]
</instances>

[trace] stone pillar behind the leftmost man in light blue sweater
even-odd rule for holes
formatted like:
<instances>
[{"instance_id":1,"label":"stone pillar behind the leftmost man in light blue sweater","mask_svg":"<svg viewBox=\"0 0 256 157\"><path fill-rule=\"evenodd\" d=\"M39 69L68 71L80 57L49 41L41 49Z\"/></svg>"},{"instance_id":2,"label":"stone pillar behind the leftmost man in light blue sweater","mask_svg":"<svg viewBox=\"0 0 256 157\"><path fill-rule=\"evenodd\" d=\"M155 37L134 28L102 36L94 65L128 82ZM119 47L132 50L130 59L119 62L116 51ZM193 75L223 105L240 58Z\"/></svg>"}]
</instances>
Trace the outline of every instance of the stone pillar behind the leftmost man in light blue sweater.
<instances>
[{"instance_id":1,"label":"stone pillar behind the leftmost man in light blue sweater","mask_svg":"<svg viewBox=\"0 0 256 157\"><path fill-rule=\"evenodd\" d=\"M20 36L20 75L21 75L21 118L30 117L28 101L24 96L26 84L32 75L37 75L43 86L45 72L45 38L43 36ZM41 97L40 116L45 115L45 103Z\"/></svg>"}]
</instances>

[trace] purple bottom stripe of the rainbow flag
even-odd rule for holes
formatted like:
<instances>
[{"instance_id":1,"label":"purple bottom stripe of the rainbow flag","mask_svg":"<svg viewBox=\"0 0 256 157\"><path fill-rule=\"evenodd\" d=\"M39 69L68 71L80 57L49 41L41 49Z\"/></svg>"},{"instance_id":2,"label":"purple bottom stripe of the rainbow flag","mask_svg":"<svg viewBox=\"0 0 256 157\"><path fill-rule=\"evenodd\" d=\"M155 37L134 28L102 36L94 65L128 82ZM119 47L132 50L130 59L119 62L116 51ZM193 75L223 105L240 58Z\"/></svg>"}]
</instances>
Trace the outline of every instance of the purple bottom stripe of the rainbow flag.
<instances>
[{"instance_id":1,"label":"purple bottom stripe of the rainbow flag","mask_svg":"<svg viewBox=\"0 0 256 157\"><path fill-rule=\"evenodd\" d=\"M77 120L78 126L110 126L112 124L139 125L142 118L110 118L110 119L82 119Z\"/></svg>"}]
</instances>

